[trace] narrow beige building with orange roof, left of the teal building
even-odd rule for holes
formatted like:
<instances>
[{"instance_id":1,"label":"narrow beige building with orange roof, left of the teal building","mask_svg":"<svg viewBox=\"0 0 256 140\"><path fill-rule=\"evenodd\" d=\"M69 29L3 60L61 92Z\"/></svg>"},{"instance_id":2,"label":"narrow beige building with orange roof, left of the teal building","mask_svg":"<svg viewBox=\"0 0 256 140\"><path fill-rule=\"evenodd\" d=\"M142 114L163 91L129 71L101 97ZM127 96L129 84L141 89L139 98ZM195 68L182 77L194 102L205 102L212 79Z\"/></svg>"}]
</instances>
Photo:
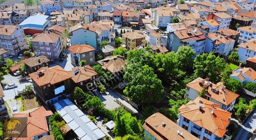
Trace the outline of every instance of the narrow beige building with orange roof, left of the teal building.
<instances>
[{"instance_id":1,"label":"narrow beige building with orange roof, left of the teal building","mask_svg":"<svg viewBox=\"0 0 256 140\"><path fill-rule=\"evenodd\" d=\"M66 28L61 27L59 25L54 25L48 29L61 37L61 48L67 47L67 36L66 36Z\"/></svg>"}]
</instances>

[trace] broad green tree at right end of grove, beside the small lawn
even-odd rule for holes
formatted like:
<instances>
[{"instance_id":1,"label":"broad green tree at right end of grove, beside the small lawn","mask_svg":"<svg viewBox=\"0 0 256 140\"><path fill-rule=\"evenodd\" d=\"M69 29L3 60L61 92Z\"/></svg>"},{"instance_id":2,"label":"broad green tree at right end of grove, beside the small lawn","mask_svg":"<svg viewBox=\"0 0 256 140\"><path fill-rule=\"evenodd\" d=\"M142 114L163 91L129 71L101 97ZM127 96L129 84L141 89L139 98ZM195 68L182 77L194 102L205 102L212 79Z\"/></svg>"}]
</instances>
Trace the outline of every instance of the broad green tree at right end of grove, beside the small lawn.
<instances>
[{"instance_id":1,"label":"broad green tree at right end of grove, beside the small lawn","mask_svg":"<svg viewBox=\"0 0 256 140\"><path fill-rule=\"evenodd\" d=\"M224 59L219 56L216 57L213 52L198 55L194 60L195 76L201 78L208 77L214 83L220 81L219 74L224 68Z\"/></svg>"}]
</instances>

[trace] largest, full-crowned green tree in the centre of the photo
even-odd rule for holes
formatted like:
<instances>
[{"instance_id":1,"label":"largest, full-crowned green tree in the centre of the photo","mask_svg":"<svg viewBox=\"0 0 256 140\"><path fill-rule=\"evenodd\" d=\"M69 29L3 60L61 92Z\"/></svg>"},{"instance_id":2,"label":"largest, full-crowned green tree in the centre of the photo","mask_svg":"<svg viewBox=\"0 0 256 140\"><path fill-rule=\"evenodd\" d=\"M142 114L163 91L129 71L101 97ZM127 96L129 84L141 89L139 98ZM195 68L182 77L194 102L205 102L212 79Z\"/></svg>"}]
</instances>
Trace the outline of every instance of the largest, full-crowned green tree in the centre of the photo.
<instances>
[{"instance_id":1,"label":"largest, full-crowned green tree in the centre of the photo","mask_svg":"<svg viewBox=\"0 0 256 140\"><path fill-rule=\"evenodd\" d=\"M126 73L125 73L126 74ZM143 66L143 70L138 72L132 81L128 83L124 90L125 95L134 102L148 104L162 100L164 90L162 82L154 74L154 71L148 65Z\"/></svg>"}]
</instances>

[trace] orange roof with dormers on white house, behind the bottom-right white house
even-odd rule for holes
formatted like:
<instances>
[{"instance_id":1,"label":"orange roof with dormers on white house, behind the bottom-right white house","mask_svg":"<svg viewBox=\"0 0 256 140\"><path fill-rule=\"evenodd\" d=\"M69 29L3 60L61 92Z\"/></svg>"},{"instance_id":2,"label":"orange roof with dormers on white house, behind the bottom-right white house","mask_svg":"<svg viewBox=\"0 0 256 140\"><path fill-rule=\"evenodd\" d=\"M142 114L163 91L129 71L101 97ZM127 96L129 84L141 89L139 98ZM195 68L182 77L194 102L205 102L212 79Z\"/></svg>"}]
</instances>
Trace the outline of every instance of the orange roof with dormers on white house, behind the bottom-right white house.
<instances>
[{"instance_id":1,"label":"orange roof with dormers on white house, behind the bottom-right white house","mask_svg":"<svg viewBox=\"0 0 256 140\"><path fill-rule=\"evenodd\" d=\"M211 83L209 85L209 79L206 78L206 79L203 79L203 78L196 78L194 81L191 81L189 84L186 84L187 87L190 87L198 92L201 92L201 90L203 89L203 85L201 85L201 83L203 84L207 84L207 87L208 87L208 92L207 92L207 96L220 102L221 104L224 104L224 105L229 105L231 104L234 100L236 100L236 98L239 97L238 94L236 94L235 92L232 92L230 90L227 90L227 89L223 89L224 85L221 84L221 85L216 85L216 84L213 84ZM212 91L212 88L213 89L222 89L221 91L217 90L218 91L218 94L213 92Z\"/></svg>"}]
</instances>

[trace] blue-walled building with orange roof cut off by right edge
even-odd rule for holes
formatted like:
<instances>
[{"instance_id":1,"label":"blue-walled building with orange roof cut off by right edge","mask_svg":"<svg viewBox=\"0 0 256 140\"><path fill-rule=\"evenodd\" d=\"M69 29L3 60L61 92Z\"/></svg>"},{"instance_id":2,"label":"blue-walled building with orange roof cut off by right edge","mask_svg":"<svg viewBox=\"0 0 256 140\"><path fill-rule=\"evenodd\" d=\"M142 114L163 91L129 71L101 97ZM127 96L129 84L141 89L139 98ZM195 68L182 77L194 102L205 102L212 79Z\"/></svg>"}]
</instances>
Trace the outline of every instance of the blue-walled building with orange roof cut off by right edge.
<instances>
[{"instance_id":1,"label":"blue-walled building with orange roof cut off by right edge","mask_svg":"<svg viewBox=\"0 0 256 140\"><path fill-rule=\"evenodd\" d=\"M246 63L248 58L253 58L256 56L256 39L251 39L247 42L237 45L239 60Z\"/></svg>"}]
</instances>

